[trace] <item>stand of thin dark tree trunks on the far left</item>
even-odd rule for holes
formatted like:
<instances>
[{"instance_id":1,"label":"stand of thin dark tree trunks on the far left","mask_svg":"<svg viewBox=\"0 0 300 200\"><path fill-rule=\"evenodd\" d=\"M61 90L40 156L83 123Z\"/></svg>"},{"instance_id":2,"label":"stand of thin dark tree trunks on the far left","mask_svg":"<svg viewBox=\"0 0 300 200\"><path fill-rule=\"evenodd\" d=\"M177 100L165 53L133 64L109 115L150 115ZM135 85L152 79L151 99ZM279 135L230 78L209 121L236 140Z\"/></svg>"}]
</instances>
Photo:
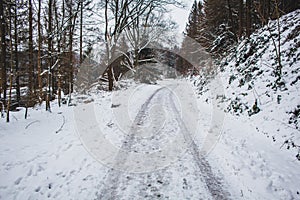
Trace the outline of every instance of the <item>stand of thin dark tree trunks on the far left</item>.
<instances>
[{"instance_id":1,"label":"stand of thin dark tree trunks on the far left","mask_svg":"<svg viewBox=\"0 0 300 200\"><path fill-rule=\"evenodd\" d=\"M0 1L0 110L32 107L73 91L91 0ZM79 31L77 31L79 30ZM79 32L79 34L77 34ZM79 43L79 44L78 44ZM75 47L80 48L75 49ZM79 56L77 56L79 55Z\"/></svg>"}]
</instances>

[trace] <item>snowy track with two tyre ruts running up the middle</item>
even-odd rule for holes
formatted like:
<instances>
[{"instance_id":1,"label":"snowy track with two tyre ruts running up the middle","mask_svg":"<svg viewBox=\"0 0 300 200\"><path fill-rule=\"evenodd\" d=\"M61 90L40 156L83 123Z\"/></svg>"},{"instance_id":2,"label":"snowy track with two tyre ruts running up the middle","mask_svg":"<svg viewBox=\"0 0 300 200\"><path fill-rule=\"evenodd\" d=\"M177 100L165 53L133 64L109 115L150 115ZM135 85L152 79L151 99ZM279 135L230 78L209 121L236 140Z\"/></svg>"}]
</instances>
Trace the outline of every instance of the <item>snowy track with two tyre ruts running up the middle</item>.
<instances>
[{"instance_id":1,"label":"snowy track with two tyre ruts running up the middle","mask_svg":"<svg viewBox=\"0 0 300 200\"><path fill-rule=\"evenodd\" d=\"M122 141L121 149L142 152L147 157L151 148L162 151L160 146L164 144L161 141L167 136L168 140L178 137L184 141L183 154L163 169L130 173L118 168L130 166L135 160L129 159L127 154L118 153L114 163L117 169L110 169L105 176L99 199L229 199L230 194L223 189L222 178L212 172L182 119L173 92L176 87L176 84L159 86L148 94L131 125L130 133ZM161 156L157 159L168 159L168 155ZM152 163L153 166L156 164Z\"/></svg>"}]
</instances>

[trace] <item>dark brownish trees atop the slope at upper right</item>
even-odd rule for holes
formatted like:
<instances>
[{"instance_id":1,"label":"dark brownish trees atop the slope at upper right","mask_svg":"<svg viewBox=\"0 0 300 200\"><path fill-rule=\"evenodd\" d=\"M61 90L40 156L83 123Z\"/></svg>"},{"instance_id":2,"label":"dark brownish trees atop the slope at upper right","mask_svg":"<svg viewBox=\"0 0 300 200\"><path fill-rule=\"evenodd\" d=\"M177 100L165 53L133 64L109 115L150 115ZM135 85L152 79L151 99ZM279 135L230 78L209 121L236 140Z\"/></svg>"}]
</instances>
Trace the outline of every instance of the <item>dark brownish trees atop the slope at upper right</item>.
<instances>
[{"instance_id":1,"label":"dark brownish trees atop the slope at upper right","mask_svg":"<svg viewBox=\"0 0 300 200\"><path fill-rule=\"evenodd\" d=\"M299 0L195 1L185 34L218 57L226 54L232 44L249 37L269 20L299 7Z\"/></svg>"}]
</instances>

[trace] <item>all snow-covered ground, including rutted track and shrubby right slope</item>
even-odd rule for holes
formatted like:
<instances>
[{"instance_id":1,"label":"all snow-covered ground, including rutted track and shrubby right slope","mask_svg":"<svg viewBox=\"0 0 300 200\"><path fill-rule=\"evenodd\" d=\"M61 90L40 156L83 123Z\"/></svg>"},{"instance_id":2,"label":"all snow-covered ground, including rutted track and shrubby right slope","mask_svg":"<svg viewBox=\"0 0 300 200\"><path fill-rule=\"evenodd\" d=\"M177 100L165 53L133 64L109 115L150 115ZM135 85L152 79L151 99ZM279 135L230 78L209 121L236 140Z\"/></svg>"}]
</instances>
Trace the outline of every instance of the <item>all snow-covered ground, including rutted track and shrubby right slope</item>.
<instances>
[{"instance_id":1,"label":"all snow-covered ground, including rutted track and shrubby right slope","mask_svg":"<svg viewBox=\"0 0 300 200\"><path fill-rule=\"evenodd\" d=\"M281 19L284 87L265 28L206 85L132 83L27 120L11 112L0 120L0 199L300 199L299 116L288 122L300 103L299 16Z\"/></svg>"}]
</instances>

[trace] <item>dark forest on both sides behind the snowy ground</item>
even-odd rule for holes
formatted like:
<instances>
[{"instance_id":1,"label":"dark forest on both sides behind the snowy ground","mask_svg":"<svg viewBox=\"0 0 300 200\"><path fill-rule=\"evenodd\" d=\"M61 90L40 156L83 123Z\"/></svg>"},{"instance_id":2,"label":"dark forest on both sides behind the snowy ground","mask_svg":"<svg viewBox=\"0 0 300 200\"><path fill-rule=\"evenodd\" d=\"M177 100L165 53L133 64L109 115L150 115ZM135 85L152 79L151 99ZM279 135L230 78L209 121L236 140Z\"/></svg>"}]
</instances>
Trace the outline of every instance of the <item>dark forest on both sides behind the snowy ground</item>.
<instances>
[{"instance_id":1,"label":"dark forest on both sides behind the snowy ground","mask_svg":"<svg viewBox=\"0 0 300 200\"><path fill-rule=\"evenodd\" d=\"M175 30L174 22L164 19L162 14L168 11L168 5L184 7L184 3L177 0L1 1L2 116L6 112L9 121L10 110L17 107L27 110L43 101L50 111L50 102L54 99L59 105L66 101L69 104L74 80L90 81L90 77L77 76L78 71L84 70L80 69L84 60L88 62L88 71L94 72L103 66L105 70L93 76L107 81L108 89L113 90L122 71L136 68L145 54L149 57L146 49L151 42ZM217 60L269 20L297 8L299 1L295 0L195 1L184 34ZM103 44L102 58L93 55L87 59L96 42ZM184 39L178 51L190 53L185 46ZM118 62L112 62L120 55L123 57ZM182 74L192 68L191 63L178 56L167 55L164 60L173 63ZM125 67L121 62L126 63ZM69 95L69 100L62 100L62 94Z\"/></svg>"}]
</instances>

